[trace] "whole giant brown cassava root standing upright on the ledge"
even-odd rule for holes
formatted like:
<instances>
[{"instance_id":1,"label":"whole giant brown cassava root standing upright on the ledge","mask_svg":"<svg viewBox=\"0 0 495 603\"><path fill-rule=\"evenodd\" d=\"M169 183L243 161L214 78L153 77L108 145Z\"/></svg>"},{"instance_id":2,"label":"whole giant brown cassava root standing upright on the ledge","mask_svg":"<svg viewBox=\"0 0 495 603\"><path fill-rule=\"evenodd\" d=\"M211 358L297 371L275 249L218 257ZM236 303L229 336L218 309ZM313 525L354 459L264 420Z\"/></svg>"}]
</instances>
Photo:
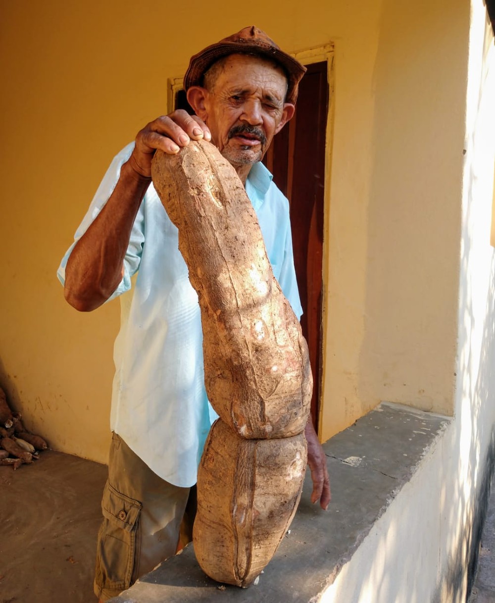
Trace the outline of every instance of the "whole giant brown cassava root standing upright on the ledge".
<instances>
[{"instance_id":1,"label":"whole giant brown cassava root standing upright on the ledge","mask_svg":"<svg viewBox=\"0 0 495 603\"><path fill-rule=\"evenodd\" d=\"M301 327L274 278L251 201L210 143L157 151L153 183L198 294L204 379L219 414L198 470L194 550L219 582L248 586L301 496L312 376Z\"/></svg>"}]
</instances>

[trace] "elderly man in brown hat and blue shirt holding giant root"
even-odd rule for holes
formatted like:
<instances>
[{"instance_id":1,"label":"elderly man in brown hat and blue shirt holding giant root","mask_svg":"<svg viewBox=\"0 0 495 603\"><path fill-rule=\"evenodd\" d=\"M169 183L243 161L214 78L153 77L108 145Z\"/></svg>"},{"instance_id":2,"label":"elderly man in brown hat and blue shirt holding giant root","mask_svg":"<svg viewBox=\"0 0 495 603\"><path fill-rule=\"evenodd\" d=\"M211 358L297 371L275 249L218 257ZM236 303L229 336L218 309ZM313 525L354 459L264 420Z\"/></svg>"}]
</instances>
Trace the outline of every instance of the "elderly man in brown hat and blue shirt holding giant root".
<instances>
[{"instance_id":1,"label":"elderly man in brown hat and blue shirt holding giant root","mask_svg":"<svg viewBox=\"0 0 495 603\"><path fill-rule=\"evenodd\" d=\"M304 71L255 27L192 57L184 87L195 115L178 110L155 119L115 157L61 262L58 276L74 308L90 311L125 294L98 534L95 593L101 601L177 550L215 419L204 391L197 295L177 229L151 183L151 159L157 149L174 154L191 139L219 148L244 183L274 275L300 318L288 202L260 160L294 115ZM305 433L312 500L326 508L329 478L311 420Z\"/></svg>"}]
</instances>

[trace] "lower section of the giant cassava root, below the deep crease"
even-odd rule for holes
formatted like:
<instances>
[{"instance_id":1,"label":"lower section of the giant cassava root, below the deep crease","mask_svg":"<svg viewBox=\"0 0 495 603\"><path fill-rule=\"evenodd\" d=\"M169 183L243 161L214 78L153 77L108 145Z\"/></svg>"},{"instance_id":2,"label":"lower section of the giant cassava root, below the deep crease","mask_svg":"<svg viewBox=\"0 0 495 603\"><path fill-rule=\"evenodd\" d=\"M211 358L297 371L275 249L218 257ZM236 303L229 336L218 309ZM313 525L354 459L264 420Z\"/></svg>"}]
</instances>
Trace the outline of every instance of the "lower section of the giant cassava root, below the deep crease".
<instances>
[{"instance_id":1,"label":"lower section of the giant cassava root, below the deep crease","mask_svg":"<svg viewBox=\"0 0 495 603\"><path fill-rule=\"evenodd\" d=\"M246 440L219 419L198 470L194 552L218 582L246 587L271 560L299 504L303 434Z\"/></svg>"}]
</instances>

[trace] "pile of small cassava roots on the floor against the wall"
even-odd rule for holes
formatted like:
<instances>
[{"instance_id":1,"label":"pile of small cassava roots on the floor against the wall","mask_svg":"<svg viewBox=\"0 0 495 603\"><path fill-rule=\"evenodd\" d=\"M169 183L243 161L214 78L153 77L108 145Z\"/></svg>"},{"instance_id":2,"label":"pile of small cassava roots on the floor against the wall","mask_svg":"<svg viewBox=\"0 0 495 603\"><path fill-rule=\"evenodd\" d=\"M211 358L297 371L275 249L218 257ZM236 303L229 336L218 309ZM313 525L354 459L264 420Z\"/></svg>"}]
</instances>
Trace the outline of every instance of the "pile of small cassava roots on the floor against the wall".
<instances>
[{"instance_id":1,"label":"pile of small cassava roots on the floor against the wall","mask_svg":"<svg viewBox=\"0 0 495 603\"><path fill-rule=\"evenodd\" d=\"M0 388L0 465L17 469L33 463L40 450L48 448L39 435L31 434L23 425L20 412L12 412L5 392Z\"/></svg>"}]
</instances>

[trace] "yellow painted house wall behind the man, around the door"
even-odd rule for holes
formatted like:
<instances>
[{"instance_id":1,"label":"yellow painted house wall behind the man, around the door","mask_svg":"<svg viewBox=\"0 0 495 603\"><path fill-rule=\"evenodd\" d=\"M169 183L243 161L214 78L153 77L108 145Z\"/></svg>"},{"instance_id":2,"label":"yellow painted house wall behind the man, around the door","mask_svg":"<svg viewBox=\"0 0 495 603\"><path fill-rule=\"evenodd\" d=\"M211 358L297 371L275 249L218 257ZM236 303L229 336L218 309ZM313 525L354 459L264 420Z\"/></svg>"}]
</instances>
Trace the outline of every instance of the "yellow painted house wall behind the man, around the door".
<instances>
[{"instance_id":1,"label":"yellow painted house wall behind the man, around the door","mask_svg":"<svg viewBox=\"0 0 495 603\"><path fill-rule=\"evenodd\" d=\"M28 427L106 460L119 303L78 314L58 262L166 79L253 23L291 52L335 43L323 437L380 399L450 408L468 3L433 4L0 4L0 384Z\"/></svg>"}]
</instances>

